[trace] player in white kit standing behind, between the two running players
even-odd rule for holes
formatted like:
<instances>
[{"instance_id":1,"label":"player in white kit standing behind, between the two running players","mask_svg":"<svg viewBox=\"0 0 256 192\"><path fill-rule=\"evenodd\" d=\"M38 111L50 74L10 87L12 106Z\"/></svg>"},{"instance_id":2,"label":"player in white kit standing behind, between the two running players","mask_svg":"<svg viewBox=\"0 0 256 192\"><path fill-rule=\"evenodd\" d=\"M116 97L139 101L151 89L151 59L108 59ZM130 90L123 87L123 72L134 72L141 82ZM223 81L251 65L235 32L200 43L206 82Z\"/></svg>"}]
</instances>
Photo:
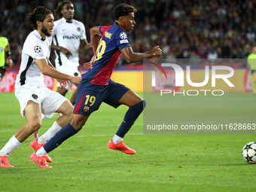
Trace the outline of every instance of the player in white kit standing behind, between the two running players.
<instances>
[{"instance_id":1,"label":"player in white kit standing behind, between the two running players","mask_svg":"<svg viewBox=\"0 0 256 192\"><path fill-rule=\"evenodd\" d=\"M80 45L84 50L88 50L90 44L87 43L84 24L74 20L74 14L75 8L72 2L59 2L54 11L54 16L59 20L54 22L55 27L53 28L53 44L51 48L56 54L55 65L59 72L72 76L81 76L80 72L78 72L78 50ZM66 87L59 87L58 84L57 92L62 96L66 96L72 85L72 82ZM78 87L78 84L75 85ZM70 99L72 105L75 105L76 93L77 90L74 91Z\"/></svg>"}]
</instances>

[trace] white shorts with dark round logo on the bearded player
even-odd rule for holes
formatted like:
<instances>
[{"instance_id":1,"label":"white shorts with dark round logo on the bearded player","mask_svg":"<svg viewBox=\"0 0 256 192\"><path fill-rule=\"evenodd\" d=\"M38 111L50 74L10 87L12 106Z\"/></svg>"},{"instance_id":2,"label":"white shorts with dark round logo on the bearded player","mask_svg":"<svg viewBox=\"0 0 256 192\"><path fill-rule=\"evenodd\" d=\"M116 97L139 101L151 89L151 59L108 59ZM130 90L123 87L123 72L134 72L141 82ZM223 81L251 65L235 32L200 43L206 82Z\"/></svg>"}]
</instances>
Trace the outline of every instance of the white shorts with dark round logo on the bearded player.
<instances>
[{"instance_id":1,"label":"white shorts with dark round logo on the bearded player","mask_svg":"<svg viewBox=\"0 0 256 192\"><path fill-rule=\"evenodd\" d=\"M23 85L15 89L15 96L20 102L20 114L24 119L24 109L29 101L36 102L41 105L41 113L46 117L53 117L56 110L67 101L66 97L48 89L45 86Z\"/></svg>"}]
</instances>

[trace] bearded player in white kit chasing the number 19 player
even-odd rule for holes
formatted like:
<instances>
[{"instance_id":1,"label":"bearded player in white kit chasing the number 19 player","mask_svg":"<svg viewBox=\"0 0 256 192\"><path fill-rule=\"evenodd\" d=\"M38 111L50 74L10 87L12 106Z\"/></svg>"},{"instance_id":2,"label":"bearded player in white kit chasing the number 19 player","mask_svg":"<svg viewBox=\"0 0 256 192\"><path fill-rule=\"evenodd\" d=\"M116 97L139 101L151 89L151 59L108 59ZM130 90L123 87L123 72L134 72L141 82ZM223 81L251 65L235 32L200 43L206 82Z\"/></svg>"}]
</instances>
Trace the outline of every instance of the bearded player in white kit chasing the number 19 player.
<instances>
[{"instance_id":1,"label":"bearded player in white kit chasing the number 19 player","mask_svg":"<svg viewBox=\"0 0 256 192\"><path fill-rule=\"evenodd\" d=\"M28 15L27 20L35 30L30 32L24 42L20 71L15 81L15 96L20 102L20 113L27 123L17 130L0 151L1 167L13 167L8 161L9 154L41 127L41 113L47 117L52 117L54 113L64 115L59 117L43 136L30 143L34 150L43 146L72 120L74 107L64 96L45 87L44 75L58 79L62 86L66 86L68 81L75 84L81 81L80 77L58 72L49 61L54 26L53 13L44 7L35 8ZM32 160L33 157L31 156L30 159ZM47 157L47 161L51 162L50 157Z\"/></svg>"}]
</instances>

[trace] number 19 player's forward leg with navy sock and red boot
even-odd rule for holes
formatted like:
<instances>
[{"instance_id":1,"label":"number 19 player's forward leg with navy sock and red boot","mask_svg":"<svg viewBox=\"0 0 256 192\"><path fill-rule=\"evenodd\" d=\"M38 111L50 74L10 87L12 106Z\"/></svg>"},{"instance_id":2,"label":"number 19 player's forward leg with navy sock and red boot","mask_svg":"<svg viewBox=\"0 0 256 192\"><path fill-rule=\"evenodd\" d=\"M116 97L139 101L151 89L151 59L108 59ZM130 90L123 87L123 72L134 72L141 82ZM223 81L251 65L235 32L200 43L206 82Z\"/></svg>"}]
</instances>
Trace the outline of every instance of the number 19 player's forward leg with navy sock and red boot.
<instances>
[{"instance_id":1,"label":"number 19 player's forward leg with navy sock and red boot","mask_svg":"<svg viewBox=\"0 0 256 192\"><path fill-rule=\"evenodd\" d=\"M134 93L133 90L128 90L118 103L127 105L130 108L126 111L123 122L117 130L117 133L114 135L113 139L108 142L108 148L123 151L123 153L126 154L136 154L136 151L123 144L123 137L145 108L145 100Z\"/></svg>"}]
</instances>

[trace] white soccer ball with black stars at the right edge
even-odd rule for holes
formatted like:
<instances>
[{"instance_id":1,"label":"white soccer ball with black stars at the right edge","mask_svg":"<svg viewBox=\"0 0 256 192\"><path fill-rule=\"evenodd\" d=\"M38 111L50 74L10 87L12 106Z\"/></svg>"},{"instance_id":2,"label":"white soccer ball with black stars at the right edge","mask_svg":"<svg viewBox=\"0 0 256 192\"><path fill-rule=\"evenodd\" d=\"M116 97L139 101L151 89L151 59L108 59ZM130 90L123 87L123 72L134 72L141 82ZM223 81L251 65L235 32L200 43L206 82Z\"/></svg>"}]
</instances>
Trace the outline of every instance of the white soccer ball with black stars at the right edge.
<instances>
[{"instance_id":1,"label":"white soccer ball with black stars at the right edge","mask_svg":"<svg viewBox=\"0 0 256 192\"><path fill-rule=\"evenodd\" d=\"M242 148L242 158L249 164L256 164L256 142L248 142Z\"/></svg>"}]
</instances>

